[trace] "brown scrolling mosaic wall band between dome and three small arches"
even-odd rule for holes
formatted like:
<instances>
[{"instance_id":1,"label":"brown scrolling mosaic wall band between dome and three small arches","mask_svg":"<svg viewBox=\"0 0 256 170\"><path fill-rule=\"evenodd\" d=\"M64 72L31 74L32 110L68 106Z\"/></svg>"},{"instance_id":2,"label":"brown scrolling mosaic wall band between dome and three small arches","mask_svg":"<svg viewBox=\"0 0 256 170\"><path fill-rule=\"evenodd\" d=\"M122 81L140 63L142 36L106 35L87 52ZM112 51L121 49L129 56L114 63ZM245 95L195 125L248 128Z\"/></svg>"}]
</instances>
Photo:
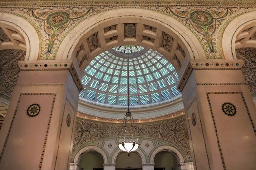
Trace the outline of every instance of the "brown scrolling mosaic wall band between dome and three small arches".
<instances>
[{"instance_id":1,"label":"brown scrolling mosaic wall band between dome and three small arches","mask_svg":"<svg viewBox=\"0 0 256 170\"><path fill-rule=\"evenodd\" d=\"M91 140L119 136L122 133L122 124L99 123L78 118L75 126L73 151ZM172 142L184 151L187 159L192 159L187 124L184 117L138 125L138 135L156 137Z\"/></svg>"}]
</instances>

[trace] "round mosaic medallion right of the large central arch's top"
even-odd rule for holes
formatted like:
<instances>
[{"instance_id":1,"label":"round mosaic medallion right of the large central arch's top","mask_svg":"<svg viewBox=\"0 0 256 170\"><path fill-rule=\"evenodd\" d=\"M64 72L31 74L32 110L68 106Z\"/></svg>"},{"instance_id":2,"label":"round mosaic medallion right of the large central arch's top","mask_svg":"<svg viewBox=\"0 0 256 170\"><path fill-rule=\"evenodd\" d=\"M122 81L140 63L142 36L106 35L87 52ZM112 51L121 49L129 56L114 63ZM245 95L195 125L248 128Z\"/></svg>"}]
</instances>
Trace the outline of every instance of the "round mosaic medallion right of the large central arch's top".
<instances>
[{"instance_id":1,"label":"round mosaic medallion right of the large central arch's top","mask_svg":"<svg viewBox=\"0 0 256 170\"><path fill-rule=\"evenodd\" d=\"M201 26L208 26L213 23L213 16L206 11L193 11L190 13L192 22Z\"/></svg>"}]
</instances>

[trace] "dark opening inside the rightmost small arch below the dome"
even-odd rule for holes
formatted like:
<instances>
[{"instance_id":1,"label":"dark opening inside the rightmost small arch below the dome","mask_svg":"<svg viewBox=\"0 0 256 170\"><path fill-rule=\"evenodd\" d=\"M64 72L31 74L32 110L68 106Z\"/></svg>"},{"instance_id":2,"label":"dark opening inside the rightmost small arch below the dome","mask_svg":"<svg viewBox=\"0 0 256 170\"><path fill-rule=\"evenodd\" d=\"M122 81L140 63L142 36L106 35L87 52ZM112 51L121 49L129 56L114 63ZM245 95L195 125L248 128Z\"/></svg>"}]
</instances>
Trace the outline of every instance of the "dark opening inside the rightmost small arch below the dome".
<instances>
[{"instance_id":1,"label":"dark opening inside the rightmost small arch below the dome","mask_svg":"<svg viewBox=\"0 0 256 170\"><path fill-rule=\"evenodd\" d=\"M155 168L164 168L165 170L178 170L178 160L174 153L162 151L156 154L154 158Z\"/></svg>"}]
</instances>

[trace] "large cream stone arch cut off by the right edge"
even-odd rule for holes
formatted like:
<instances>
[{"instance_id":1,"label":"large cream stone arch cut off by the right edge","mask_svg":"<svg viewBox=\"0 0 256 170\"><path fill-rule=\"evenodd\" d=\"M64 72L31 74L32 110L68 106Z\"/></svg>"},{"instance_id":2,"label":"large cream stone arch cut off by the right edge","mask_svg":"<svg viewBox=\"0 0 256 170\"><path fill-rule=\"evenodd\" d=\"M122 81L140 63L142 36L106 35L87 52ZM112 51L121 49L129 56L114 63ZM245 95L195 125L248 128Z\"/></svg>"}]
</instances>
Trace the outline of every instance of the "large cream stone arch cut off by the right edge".
<instances>
[{"instance_id":1,"label":"large cream stone arch cut off by the right edge","mask_svg":"<svg viewBox=\"0 0 256 170\"><path fill-rule=\"evenodd\" d=\"M232 20L222 36L222 50L225 59L236 59L236 48L256 47L256 40L248 41L253 31L256 31L256 11L243 14Z\"/></svg>"}]
</instances>

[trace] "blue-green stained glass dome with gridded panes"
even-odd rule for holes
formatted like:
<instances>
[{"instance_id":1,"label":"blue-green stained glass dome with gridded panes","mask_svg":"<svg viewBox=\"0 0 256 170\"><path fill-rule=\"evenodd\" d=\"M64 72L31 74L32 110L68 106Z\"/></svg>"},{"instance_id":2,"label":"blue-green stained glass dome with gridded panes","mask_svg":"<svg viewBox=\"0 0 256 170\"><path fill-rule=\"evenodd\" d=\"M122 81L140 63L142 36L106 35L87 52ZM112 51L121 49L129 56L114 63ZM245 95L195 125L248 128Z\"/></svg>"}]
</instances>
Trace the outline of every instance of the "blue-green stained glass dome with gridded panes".
<instances>
[{"instance_id":1,"label":"blue-green stained glass dome with gridded panes","mask_svg":"<svg viewBox=\"0 0 256 170\"><path fill-rule=\"evenodd\" d=\"M130 105L152 105L179 96L178 75L173 65L157 51L137 47L139 51L129 51ZM127 53L117 49L99 54L87 66L80 99L106 105L127 105Z\"/></svg>"}]
</instances>

